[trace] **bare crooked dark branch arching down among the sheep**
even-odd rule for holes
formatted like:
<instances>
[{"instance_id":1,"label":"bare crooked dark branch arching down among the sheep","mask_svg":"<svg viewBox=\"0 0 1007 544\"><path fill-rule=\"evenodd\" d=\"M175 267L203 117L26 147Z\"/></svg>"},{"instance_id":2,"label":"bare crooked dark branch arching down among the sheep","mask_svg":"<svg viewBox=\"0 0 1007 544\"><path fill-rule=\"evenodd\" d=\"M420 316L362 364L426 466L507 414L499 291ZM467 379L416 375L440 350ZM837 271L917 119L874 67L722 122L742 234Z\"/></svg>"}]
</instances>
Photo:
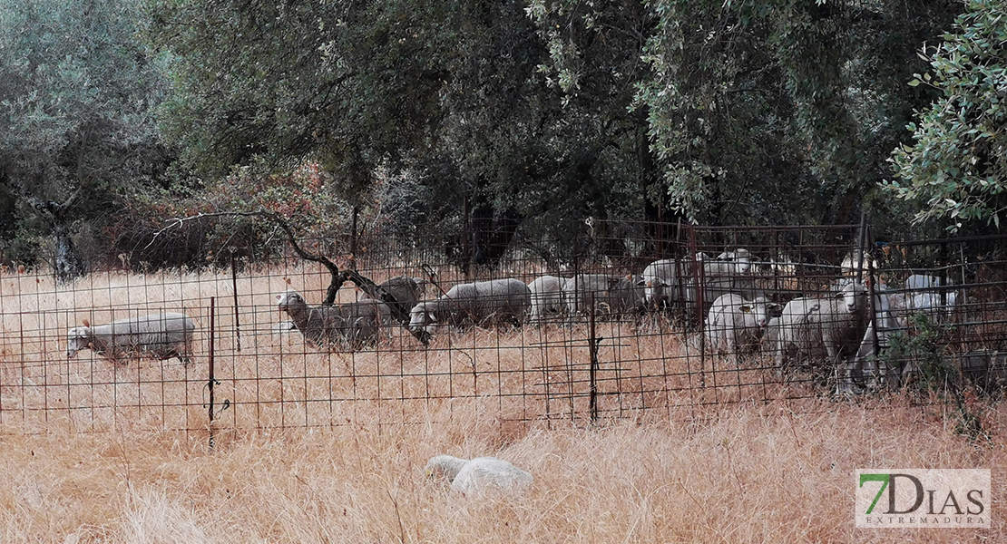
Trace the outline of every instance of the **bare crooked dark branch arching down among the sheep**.
<instances>
[{"instance_id":1,"label":"bare crooked dark branch arching down among the sheep","mask_svg":"<svg viewBox=\"0 0 1007 544\"><path fill-rule=\"evenodd\" d=\"M361 276L355 270L347 268L342 271L339 271L339 266L337 266L335 262L332 262L325 255L318 255L305 251L304 248L302 248L297 243L297 238L296 236L294 236L293 229L290 228L290 225L287 224L287 221L277 213L266 210L221 211L213 213L197 213L195 215L190 215L188 217L173 217L171 219L168 219L169 224L167 226L154 233L154 237L150 240L149 243L147 243L147 247L150 247L150 245L154 243L154 240L157 239L158 235L160 235L162 232L170 228L181 226L182 224L189 221L201 220L208 217L261 217L268 221L273 222L283 230L284 234L286 234L287 241L290 243L290 246L293 247L294 252L297 253L298 256L300 256L304 260L319 262L322 265L324 265L325 268L328 269L328 273L331 276L331 281L328 284L328 288L325 290L325 300L322 302L322 305L332 306L332 304L335 302L335 297L339 292L339 288L341 288L342 285L347 281L352 282L353 284L356 285L356 287L361 288L361 290L364 291L364 293L367 293L371 298L377 301L384 302L392 311L392 316L395 318L395 320L398 321L403 328L409 331L410 334L416 337L417 340L422 342L424 346L430 343L430 333L427 333L426 331L422 330L417 332L409 328L409 310L404 310L402 306L399 304L399 302L395 299L395 297L392 296L392 294L388 293L380 286L375 284L374 281L372 281L370 278Z\"/></svg>"}]
</instances>

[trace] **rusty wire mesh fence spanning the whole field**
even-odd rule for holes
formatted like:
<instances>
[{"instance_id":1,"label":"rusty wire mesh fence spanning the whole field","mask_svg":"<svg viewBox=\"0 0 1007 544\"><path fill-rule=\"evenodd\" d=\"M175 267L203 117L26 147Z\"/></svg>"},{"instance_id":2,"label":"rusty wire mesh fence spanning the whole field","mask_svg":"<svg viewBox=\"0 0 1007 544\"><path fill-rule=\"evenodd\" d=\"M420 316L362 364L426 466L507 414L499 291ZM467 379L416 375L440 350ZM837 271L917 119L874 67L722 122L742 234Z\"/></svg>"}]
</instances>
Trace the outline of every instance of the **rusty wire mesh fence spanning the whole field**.
<instances>
[{"instance_id":1,"label":"rusty wire mesh fence spanning the whole field","mask_svg":"<svg viewBox=\"0 0 1007 544\"><path fill-rule=\"evenodd\" d=\"M352 424L362 404L388 423L427 423L432 405L476 397L493 399L503 426L642 421L746 402L801 409L939 379L995 394L1007 378L1002 236L600 222L568 234L519 232L497 248L471 234L428 245L353 235L352 252L304 240L345 251L339 267L376 284L418 288L403 316L344 284L341 321L315 324L324 338L278 304L296 292L324 313L330 270L295 256L67 283L5 267L0 432L255 432ZM440 314L412 308L502 279L521 289L455 297ZM850 284L859 299L844 298ZM167 312L192 320L190 342L180 322L139 331L139 317ZM127 329L103 327L121 320Z\"/></svg>"}]
</instances>

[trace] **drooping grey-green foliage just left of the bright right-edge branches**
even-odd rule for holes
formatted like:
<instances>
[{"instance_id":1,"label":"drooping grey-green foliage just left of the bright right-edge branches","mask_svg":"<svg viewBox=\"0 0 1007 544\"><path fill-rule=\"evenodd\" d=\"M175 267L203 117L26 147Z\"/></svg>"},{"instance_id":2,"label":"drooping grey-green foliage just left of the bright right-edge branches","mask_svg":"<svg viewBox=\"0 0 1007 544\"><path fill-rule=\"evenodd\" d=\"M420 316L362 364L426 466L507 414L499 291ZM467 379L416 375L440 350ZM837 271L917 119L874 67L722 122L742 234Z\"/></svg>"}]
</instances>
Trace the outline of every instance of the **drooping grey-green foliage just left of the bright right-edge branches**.
<instances>
[{"instance_id":1,"label":"drooping grey-green foliage just left of the bright right-edge branches","mask_svg":"<svg viewBox=\"0 0 1007 544\"><path fill-rule=\"evenodd\" d=\"M699 222L850 222L921 94L900 88L955 5L654 0L639 86L674 206Z\"/></svg>"}]
</instances>

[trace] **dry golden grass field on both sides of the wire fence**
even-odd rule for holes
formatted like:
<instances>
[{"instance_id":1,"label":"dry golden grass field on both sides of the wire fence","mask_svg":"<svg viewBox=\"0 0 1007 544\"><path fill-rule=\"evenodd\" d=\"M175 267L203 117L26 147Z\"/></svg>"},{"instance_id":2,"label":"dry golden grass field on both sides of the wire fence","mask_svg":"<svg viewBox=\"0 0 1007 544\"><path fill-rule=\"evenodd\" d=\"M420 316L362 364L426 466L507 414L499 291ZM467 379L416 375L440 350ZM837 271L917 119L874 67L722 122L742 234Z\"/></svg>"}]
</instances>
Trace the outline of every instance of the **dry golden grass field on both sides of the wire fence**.
<instances>
[{"instance_id":1,"label":"dry golden grass field on both sides of the wire fence","mask_svg":"<svg viewBox=\"0 0 1007 544\"><path fill-rule=\"evenodd\" d=\"M583 325L453 333L429 349L395 331L377 349L317 353L273 334L288 280L316 303L326 278L237 279L239 351L227 275L0 275L0 542L1007 541L1000 404L970 399L989 433L972 440L942 403L816 398L756 363L687 357L667 323L606 323L594 426ZM205 331L209 297L217 395L231 403L212 449L208 336L188 369L64 359L82 319L184 309ZM495 455L536 483L452 494L423 478L437 454ZM854 529L861 468L992 469L994 527Z\"/></svg>"}]
</instances>

